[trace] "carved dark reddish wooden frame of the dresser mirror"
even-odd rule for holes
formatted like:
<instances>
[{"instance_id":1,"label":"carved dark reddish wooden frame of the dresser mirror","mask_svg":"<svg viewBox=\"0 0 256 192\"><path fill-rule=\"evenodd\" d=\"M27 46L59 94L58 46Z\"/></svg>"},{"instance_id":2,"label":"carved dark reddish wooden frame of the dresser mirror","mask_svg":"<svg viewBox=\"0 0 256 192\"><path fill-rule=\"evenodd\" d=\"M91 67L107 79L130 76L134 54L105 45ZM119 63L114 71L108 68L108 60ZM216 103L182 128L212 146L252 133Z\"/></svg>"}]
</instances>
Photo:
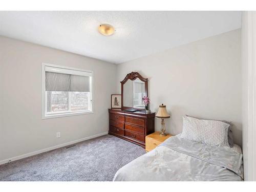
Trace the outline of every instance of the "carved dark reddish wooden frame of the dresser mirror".
<instances>
[{"instance_id":1,"label":"carved dark reddish wooden frame of the dresser mirror","mask_svg":"<svg viewBox=\"0 0 256 192\"><path fill-rule=\"evenodd\" d=\"M133 108L132 106L123 106L123 85L124 83L127 82L127 80L132 80L134 81L135 79L139 78L141 81L143 81L145 83L145 96L147 96L147 81L148 79L147 78L144 78L142 77L138 72L132 72L132 73L129 73L125 76L125 78L120 81L121 83L121 110L125 110L125 109L136 109L136 110L141 110L141 111L144 111L144 109L141 109L141 108Z\"/></svg>"}]
</instances>

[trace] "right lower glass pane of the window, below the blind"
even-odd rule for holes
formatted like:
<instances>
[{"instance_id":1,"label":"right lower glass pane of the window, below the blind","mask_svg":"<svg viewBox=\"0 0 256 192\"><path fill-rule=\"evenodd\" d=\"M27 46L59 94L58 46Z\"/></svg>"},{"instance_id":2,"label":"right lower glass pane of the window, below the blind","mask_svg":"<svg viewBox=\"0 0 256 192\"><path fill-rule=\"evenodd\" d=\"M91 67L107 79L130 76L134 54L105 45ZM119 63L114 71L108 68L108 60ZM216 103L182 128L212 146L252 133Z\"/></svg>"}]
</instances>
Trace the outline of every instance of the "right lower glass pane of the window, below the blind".
<instances>
[{"instance_id":1,"label":"right lower glass pane of the window, below the blind","mask_svg":"<svg viewBox=\"0 0 256 192\"><path fill-rule=\"evenodd\" d=\"M70 111L89 110L89 92L70 92Z\"/></svg>"}]
</instances>

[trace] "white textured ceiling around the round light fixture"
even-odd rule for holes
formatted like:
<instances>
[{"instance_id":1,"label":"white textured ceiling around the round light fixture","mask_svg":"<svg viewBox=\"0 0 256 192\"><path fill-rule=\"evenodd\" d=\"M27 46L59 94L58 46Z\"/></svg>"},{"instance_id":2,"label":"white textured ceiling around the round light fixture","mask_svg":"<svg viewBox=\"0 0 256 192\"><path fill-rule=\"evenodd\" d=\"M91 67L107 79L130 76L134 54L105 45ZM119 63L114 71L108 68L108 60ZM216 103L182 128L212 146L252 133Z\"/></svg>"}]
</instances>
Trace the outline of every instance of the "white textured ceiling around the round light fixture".
<instances>
[{"instance_id":1,"label":"white textured ceiling around the round light fixture","mask_svg":"<svg viewBox=\"0 0 256 192\"><path fill-rule=\"evenodd\" d=\"M115 34L99 34L100 24ZM240 27L240 11L0 11L0 35L112 63Z\"/></svg>"}]
</instances>

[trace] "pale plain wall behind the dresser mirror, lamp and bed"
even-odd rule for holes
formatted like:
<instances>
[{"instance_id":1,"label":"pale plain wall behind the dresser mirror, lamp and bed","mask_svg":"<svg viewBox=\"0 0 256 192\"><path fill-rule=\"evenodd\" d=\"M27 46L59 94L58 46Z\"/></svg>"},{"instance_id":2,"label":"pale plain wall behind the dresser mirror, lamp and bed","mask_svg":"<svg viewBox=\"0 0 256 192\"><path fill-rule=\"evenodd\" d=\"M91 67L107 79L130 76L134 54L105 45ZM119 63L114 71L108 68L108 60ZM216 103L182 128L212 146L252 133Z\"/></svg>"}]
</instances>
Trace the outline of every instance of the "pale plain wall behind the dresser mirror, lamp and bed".
<instances>
[{"instance_id":1,"label":"pale plain wall behind the dresser mirror, lamp and bed","mask_svg":"<svg viewBox=\"0 0 256 192\"><path fill-rule=\"evenodd\" d=\"M240 29L192 42L117 66L117 92L127 73L149 78L151 110L166 104L167 132L182 131L182 115L232 121L242 144ZM156 120L160 130L160 120Z\"/></svg>"}]
</instances>

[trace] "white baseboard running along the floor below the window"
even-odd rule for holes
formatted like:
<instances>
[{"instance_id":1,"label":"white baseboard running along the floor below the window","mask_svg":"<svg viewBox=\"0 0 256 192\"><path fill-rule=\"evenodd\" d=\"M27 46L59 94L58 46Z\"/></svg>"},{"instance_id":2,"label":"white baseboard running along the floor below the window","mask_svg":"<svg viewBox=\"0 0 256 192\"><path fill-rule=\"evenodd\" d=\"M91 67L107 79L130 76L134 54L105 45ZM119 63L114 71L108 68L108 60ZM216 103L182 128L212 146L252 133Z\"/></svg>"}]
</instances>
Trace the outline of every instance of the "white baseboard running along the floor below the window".
<instances>
[{"instance_id":1,"label":"white baseboard running along the floor below the window","mask_svg":"<svg viewBox=\"0 0 256 192\"><path fill-rule=\"evenodd\" d=\"M59 144L59 145L55 145L55 146L51 146L51 147L48 147L48 148L44 148L42 150L38 150L38 151L35 151L35 152L27 153L27 154L24 154L24 155L19 155L19 156L16 156L16 157L11 157L9 159L5 159L5 160L0 161L0 165L8 163L10 160L11 161L16 161L18 159L23 159L23 158L26 158L26 157L30 157L30 156L33 156L33 155L40 154L40 153L49 152L51 150L55 150L56 148L72 145L74 143L78 143L78 142L85 141L85 140L88 140L88 139L93 139L93 138L96 138L96 137L99 137L99 136L102 136L102 135L107 135L107 134L108 134L108 132L104 132L104 133L100 133L100 134L97 134L97 135L93 135L93 136L89 136L89 137L84 137L82 139L78 139L78 140L75 140L75 141L70 141L70 142L67 142L67 143L62 143L62 144Z\"/></svg>"}]
</instances>

